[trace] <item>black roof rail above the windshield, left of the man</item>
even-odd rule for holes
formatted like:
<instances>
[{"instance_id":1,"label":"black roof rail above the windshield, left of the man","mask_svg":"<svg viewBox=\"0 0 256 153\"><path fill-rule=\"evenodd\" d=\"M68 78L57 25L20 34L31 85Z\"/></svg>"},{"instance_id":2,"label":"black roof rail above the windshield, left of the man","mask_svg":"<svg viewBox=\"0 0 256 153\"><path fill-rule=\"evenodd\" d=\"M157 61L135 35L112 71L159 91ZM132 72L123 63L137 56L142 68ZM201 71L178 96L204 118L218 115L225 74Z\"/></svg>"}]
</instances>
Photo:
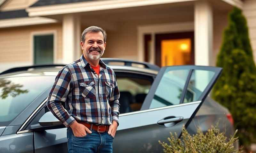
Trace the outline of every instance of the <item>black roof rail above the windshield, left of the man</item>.
<instances>
[{"instance_id":1,"label":"black roof rail above the windshield, left of the man","mask_svg":"<svg viewBox=\"0 0 256 153\"><path fill-rule=\"evenodd\" d=\"M48 64L48 65L32 65L32 66L25 66L25 67L15 67L15 68L7 69L7 70L1 72L0 75L6 74L6 73L11 73L11 72L16 72L16 71L26 71L31 68L44 68L44 67L56 67L56 66L64 67L65 65L64 64Z\"/></svg>"}]
</instances>

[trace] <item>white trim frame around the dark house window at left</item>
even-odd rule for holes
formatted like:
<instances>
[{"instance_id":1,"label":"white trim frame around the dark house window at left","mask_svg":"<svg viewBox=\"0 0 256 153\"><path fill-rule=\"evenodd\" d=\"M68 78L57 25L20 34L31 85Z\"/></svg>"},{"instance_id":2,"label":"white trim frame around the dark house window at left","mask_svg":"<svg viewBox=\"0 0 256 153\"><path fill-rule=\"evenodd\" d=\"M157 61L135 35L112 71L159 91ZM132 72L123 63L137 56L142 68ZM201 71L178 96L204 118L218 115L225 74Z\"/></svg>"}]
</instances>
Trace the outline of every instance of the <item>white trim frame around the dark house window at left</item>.
<instances>
[{"instance_id":1,"label":"white trim frame around the dark house window at left","mask_svg":"<svg viewBox=\"0 0 256 153\"><path fill-rule=\"evenodd\" d=\"M30 34L30 61L34 64L34 36L53 34L53 63L59 63L57 61L57 30L45 30L45 31L35 31Z\"/></svg>"}]
</instances>

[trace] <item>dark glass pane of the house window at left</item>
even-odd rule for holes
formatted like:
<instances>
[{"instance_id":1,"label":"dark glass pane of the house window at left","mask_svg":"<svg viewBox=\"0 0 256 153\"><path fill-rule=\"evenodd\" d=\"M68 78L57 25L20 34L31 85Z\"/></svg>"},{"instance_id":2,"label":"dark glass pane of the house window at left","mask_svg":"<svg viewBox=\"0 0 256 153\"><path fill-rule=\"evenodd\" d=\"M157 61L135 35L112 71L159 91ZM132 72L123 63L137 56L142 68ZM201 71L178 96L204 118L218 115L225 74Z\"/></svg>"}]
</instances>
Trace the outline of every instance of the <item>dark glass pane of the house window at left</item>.
<instances>
[{"instance_id":1,"label":"dark glass pane of the house window at left","mask_svg":"<svg viewBox=\"0 0 256 153\"><path fill-rule=\"evenodd\" d=\"M34 36L34 63L53 63L53 34Z\"/></svg>"}]
</instances>

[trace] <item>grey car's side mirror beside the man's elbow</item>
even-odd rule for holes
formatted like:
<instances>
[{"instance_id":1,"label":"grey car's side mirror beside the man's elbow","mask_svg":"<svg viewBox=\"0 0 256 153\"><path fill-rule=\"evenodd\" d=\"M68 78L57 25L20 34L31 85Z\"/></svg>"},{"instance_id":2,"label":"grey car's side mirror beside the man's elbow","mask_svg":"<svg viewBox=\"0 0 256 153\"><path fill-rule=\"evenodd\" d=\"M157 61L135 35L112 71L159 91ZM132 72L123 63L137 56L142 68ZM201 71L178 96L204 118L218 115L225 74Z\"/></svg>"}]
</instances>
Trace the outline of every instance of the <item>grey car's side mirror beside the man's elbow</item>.
<instances>
[{"instance_id":1,"label":"grey car's side mirror beside the man's elbow","mask_svg":"<svg viewBox=\"0 0 256 153\"><path fill-rule=\"evenodd\" d=\"M65 126L52 114L52 112L46 112L39 119L37 124L31 125L31 129L33 131L42 131L58 128L65 128Z\"/></svg>"}]
</instances>

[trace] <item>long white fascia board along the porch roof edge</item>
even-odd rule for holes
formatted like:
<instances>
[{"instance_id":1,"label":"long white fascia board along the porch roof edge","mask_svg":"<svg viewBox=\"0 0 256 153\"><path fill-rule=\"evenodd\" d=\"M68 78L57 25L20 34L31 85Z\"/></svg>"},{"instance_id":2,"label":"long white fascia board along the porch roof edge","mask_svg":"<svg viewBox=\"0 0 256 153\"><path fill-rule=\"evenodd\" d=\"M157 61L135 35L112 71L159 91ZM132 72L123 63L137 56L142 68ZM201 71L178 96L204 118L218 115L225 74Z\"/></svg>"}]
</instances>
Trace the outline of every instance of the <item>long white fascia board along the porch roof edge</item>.
<instances>
[{"instance_id":1,"label":"long white fascia board along the porch roof edge","mask_svg":"<svg viewBox=\"0 0 256 153\"><path fill-rule=\"evenodd\" d=\"M90 1L79 2L73 4L58 4L48 6L37 6L27 8L26 11L30 17L47 16L56 14L68 14L87 11L100 11L109 9L119 9L128 7L138 7L157 4L168 4L178 2L188 2L197 0L104 0L104 1Z\"/></svg>"}]
</instances>

